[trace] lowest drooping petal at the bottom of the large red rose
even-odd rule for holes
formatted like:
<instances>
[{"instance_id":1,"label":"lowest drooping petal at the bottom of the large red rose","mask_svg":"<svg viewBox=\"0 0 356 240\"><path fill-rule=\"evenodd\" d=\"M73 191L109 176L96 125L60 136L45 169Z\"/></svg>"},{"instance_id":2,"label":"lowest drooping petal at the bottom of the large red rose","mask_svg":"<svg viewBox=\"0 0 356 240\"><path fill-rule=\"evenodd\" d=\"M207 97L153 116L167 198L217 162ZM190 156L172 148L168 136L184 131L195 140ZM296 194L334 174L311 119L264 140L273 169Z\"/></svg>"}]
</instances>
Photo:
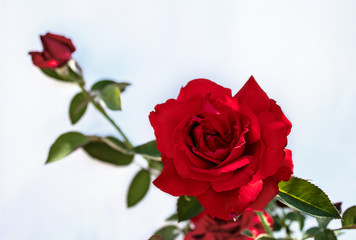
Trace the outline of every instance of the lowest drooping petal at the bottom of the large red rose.
<instances>
[{"instance_id":1,"label":"lowest drooping petal at the bottom of the large red rose","mask_svg":"<svg viewBox=\"0 0 356 240\"><path fill-rule=\"evenodd\" d=\"M240 215L256 199L262 185L262 181L259 181L225 192L215 192L209 188L208 191L196 197L211 217L230 220L232 212Z\"/></svg>"}]
</instances>

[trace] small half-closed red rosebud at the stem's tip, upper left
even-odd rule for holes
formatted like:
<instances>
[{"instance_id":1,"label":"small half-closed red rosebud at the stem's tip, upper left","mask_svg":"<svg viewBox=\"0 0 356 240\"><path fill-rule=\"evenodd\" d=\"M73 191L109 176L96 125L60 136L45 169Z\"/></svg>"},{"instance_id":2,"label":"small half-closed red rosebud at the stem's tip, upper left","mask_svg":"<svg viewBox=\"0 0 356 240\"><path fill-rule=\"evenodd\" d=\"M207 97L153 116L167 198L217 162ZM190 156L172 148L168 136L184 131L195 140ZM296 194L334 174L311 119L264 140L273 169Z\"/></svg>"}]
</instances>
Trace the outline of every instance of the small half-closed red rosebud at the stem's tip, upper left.
<instances>
[{"instance_id":1,"label":"small half-closed red rosebud at the stem's tip, upper left","mask_svg":"<svg viewBox=\"0 0 356 240\"><path fill-rule=\"evenodd\" d=\"M39 68L57 68L64 66L71 58L75 47L66 37L47 33L41 36L43 52L29 52L33 64Z\"/></svg>"}]
</instances>

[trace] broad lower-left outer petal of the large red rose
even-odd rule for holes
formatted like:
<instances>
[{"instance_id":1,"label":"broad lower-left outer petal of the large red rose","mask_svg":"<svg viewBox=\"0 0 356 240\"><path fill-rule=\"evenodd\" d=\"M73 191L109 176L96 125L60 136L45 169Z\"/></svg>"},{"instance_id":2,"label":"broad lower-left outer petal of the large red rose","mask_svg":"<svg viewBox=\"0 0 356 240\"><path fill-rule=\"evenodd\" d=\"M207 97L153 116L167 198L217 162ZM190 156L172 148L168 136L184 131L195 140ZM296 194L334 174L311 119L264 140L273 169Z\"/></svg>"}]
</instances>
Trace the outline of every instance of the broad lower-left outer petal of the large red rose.
<instances>
[{"instance_id":1,"label":"broad lower-left outer petal of the large red rose","mask_svg":"<svg viewBox=\"0 0 356 240\"><path fill-rule=\"evenodd\" d=\"M168 158L165 159L163 170L153 184L173 196L194 196L205 192L210 186L207 182L182 178L175 170L173 160Z\"/></svg>"}]
</instances>

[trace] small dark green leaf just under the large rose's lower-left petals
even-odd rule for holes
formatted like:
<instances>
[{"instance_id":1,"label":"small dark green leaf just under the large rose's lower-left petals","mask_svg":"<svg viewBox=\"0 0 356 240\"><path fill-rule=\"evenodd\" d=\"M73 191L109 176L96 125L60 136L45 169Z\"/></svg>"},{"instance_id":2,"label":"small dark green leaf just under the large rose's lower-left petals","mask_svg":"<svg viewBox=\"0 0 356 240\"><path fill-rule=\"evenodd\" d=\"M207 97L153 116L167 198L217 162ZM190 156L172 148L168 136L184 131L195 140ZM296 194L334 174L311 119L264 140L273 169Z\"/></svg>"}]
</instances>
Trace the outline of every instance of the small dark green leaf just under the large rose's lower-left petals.
<instances>
[{"instance_id":1,"label":"small dark green leaf just under the large rose's lower-left petals","mask_svg":"<svg viewBox=\"0 0 356 240\"><path fill-rule=\"evenodd\" d=\"M177 201L178 222L191 219L204 208L194 196L181 196Z\"/></svg>"}]
</instances>

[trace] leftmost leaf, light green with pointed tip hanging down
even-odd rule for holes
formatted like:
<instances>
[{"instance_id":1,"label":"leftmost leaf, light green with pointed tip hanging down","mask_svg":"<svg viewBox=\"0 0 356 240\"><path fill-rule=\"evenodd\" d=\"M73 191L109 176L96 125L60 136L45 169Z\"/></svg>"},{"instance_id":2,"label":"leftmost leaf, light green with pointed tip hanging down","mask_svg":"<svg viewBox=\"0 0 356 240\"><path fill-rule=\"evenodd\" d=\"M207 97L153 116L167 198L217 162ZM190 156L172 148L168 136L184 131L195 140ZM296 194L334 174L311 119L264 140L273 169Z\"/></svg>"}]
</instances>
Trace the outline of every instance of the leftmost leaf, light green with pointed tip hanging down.
<instances>
[{"instance_id":1,"label":"leftmost leaf, light green with pointed tip hanging down","mask_svg":"<svg viewBox=\"0 0 356 240\"><path fill-rule=\"evenodd\" d=\"M68 132L59 136L49 150L46 164L61 160L87 142L88 137L79 132Z\"/></svg>"}]
</instances>

